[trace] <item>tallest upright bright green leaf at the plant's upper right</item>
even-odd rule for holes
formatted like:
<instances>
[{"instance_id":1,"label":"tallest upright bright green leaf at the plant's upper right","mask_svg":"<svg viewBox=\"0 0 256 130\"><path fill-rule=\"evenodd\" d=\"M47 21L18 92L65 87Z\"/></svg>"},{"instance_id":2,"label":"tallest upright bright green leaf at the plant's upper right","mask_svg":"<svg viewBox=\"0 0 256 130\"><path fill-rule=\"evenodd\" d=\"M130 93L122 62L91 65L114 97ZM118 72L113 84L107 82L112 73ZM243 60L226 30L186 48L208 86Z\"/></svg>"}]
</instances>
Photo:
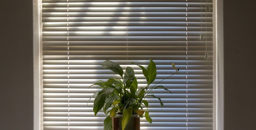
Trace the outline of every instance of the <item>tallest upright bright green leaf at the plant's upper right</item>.
<instances>
[{"instance_id":1,"label":"tallest upright bright green leaf at the plant's upper right","mask_svg":"<svg viewBox=\"0 0 256 130\"><path fill-rule=\"evenodd\" d=\"M156 78L156 65L153 60L150 59L148 64L148 85L151 84Z\"/></svg>"}]
</instances>

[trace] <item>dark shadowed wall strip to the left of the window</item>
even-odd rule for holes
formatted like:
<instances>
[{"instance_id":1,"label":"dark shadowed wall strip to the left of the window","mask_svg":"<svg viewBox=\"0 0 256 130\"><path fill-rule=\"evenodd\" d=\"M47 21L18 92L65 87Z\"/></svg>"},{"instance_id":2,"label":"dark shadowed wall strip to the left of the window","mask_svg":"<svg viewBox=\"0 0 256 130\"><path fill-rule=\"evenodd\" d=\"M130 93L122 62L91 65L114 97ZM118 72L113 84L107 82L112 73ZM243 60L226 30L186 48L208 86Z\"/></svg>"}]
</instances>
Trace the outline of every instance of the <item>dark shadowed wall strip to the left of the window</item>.
<instances>
[{"instance_id":1,"label":"dark shadowed wall strip to the left of the window","mask_svg":"<svg viewBox=\"0 0 256 130\"><path fill-rule=\"evenodd\" d=\"M33 129L32 5L0 3L0 130Z\"/></svg>"}]
</instances>

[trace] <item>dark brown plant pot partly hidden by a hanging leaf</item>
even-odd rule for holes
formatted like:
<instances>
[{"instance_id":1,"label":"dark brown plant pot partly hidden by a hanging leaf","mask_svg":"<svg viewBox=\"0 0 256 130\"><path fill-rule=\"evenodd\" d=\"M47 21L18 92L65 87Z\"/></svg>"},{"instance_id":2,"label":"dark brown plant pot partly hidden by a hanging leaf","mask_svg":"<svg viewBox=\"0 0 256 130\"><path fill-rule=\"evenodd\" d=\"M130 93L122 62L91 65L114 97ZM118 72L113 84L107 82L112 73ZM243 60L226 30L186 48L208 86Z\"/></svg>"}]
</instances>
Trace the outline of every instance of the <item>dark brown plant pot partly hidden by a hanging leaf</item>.
<instances>
[{"instance_id":1,"label":"dark brown plant pot partly hidden by a hanging leaf","mask_svg":"<svg viewBox=\"0 0 256 130\"><path fill-rule=\"evenodd\" d=\"M121 114L116 114L116 117L113 118L113 130L122 130L122 116ZM131 116L125 130L140 130L140 118L137 114Z\"/></svg>"}]
</instances>

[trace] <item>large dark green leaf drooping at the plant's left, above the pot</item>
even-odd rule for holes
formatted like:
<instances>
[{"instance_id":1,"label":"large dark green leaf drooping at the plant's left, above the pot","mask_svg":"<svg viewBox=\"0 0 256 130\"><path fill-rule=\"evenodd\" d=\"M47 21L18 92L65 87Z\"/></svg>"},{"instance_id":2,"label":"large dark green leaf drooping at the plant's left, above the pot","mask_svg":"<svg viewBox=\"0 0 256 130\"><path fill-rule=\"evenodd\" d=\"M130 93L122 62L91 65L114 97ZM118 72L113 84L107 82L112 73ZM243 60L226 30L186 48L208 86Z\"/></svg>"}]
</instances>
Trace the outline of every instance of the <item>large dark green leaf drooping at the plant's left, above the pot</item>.
<instances>
[{"instance_id":1,"label":"large dark green leaf drooping at the plant's left, above the pot","mask_svg":"<svg viewBox=\"0 0 256 130\"><path fill-rule=\"evenodd\" d=\"M102 109L106 99L109 97L109 95L112 94L113 91L114 91L114 88L106 88L106 89L102 89L98 93L93 103L93 111L95 116Z\"/></svg>"}]
</instances>

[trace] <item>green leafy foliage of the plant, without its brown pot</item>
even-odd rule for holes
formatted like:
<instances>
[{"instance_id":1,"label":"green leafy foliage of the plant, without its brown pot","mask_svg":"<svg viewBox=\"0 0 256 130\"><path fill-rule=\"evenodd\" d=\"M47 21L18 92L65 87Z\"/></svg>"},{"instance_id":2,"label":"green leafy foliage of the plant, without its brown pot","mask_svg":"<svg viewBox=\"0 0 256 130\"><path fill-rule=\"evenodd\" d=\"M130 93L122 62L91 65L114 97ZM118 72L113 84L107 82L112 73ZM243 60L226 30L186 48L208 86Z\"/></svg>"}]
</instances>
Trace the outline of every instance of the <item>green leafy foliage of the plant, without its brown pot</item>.
<instances>
[{"instance_id":1,"label":"green leafy foliage of the plant, without its brown pot","mask_svg":"<svg viewBox=\"0 0 256 130\"><path fill-rule=\"evenodd\" d=\"M178 70L174 63L171 64L176 70L176 72L172 74L174 75L178 72ZM113 77L107 81L99 80L93 84L99 85L102 88L101 91L96 92L91 97L95 97L93 104L95 116L100 110L103 110L105 114L109 114L104 120L104 130L112 130L112 118L115 117L116 114L122 114L122 130L125 129L125 126L133 114L138 114L140 117L143 117L144 111L146 120L151 123L152 119L150 118L148 111L144 109L144 107L148 108L148 101L145 99L149 96L157 98L160 101L161 106L163 106L163 103L159 97L150 94L151 90L160 88L171 93L171 91L166 89L164 86L157 86L157 84L164 79L157 84L150 86L150 84L152 84L156 78L156 65L153 60L150 59L147 69L143 66L135 64L142 69L143 75L147 80L147 86L140 88L138 88L138 82L133 68L129 66L126 67L124 73L123 69L116 62L106 60L100 65L120 76L120 79ZM168 76L167 78L171 77L172 75ZM111 109L109 110L109 108ZM142 113L140 113L141 111Z\"/></svg>"}]
</instances>

